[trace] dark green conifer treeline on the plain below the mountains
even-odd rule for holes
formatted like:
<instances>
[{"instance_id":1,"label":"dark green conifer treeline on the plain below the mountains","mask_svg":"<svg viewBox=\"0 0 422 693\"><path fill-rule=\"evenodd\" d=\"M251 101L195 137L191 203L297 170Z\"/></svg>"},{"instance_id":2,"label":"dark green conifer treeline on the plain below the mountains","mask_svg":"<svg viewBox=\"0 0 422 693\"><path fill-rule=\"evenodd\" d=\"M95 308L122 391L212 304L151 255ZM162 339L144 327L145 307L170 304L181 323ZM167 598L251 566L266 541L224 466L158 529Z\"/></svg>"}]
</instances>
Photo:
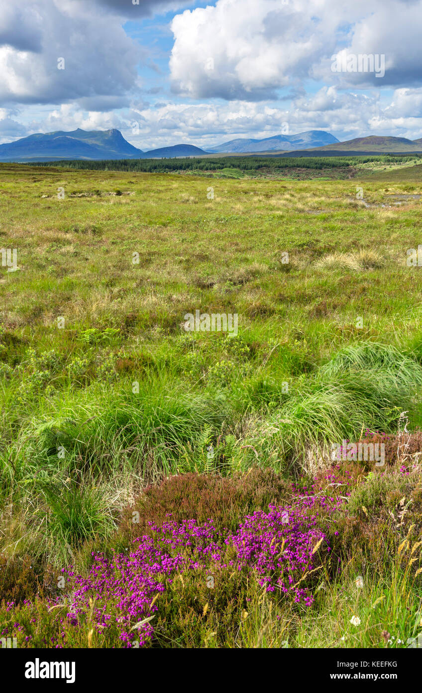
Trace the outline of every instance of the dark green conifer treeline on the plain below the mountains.
<instances>
[{"instance_id":1,"label":"dark green conifer treeline on the plain below the mountains","mask_svg":"<svg viewBox=\"0 0 422 693\"><path fill-rule=\"evenodd\" d=\"M369 161L380 161L385 164L403 163L414 159L416 155L366 155L361 157L219 157L216 159L111 159L104 161L42 161L30 166L59 166L62 168L82 168L89 170L140 171L145 173L166 171L217 171L223 168L240 170L259 170L272 168L344 168L367 164Z\"/></svg>"}]
</instances>

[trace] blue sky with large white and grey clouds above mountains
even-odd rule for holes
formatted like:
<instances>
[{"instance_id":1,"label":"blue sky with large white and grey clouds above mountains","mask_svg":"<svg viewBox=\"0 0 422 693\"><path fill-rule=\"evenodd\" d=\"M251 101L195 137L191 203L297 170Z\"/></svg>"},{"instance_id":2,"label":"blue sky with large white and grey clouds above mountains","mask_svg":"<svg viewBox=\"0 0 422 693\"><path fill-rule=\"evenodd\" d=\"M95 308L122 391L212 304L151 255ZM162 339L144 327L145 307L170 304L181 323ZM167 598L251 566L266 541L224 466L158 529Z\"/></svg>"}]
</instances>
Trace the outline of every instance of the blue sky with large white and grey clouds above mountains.
<instances>
[{"instance_id":1,"label":"blue sky with large white and grey clouds above mountains","mask_svg":"<svg viewBox=\"0 0 422 693\"><path fill-rule=\"evenodd\" d=\"M421 27L422 0L0 0L0 143L76 128L143 150L417 139Z\"/></svg>"}]
</instances>

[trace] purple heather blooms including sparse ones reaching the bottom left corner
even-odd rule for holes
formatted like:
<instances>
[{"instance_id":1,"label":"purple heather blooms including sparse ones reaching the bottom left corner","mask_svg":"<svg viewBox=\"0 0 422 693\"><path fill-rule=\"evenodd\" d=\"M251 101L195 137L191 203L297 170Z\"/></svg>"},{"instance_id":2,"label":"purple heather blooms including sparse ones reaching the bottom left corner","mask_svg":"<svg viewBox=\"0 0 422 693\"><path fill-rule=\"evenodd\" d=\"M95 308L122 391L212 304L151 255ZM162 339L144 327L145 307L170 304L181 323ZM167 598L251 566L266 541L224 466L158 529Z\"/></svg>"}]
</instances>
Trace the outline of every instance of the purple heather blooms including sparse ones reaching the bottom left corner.
<instances>
[{"instance_id":1,"label":"purple heather blooms including sparse ones reaching the bottom left corner","mask_svg":"<svg viewBox=\"0 0 422 693\"><path fill-rule=\"evenodd\" d=\"M257 510L244 517L235 531L217 529L210 518L199 524L195 519L176 521L169 514L161 525L149 521L149 534L133 539L134 550L129 554L114 552L109 557L93 552L86 577L72 568L62 570L69 590L65 602L46 602L49 611L44 618L53 626L48 644L71 646L71 631L84 632L88 623L95 633L117 635L122 647L132 647L134 640L143 647L154 636L160 595L172 590L177 579L182 584L190 579L203 584L204 572L216 580L224 574L226 581L230 574L247 581L255 575L255 583L267 593L281 598L291 595L294 602L310 606L313 572L318 572L324 554L331 551L320 529L321 516L332 514L340 502L293 487L291 505ZM40 601L24 602L25 618L14 615L19 625L14 630L25 638L22 644L36 646L32 623ZM10 602L8 611L12 608ZM59 618L57 608L62 613Z\"/></svg>"}]
</instances>

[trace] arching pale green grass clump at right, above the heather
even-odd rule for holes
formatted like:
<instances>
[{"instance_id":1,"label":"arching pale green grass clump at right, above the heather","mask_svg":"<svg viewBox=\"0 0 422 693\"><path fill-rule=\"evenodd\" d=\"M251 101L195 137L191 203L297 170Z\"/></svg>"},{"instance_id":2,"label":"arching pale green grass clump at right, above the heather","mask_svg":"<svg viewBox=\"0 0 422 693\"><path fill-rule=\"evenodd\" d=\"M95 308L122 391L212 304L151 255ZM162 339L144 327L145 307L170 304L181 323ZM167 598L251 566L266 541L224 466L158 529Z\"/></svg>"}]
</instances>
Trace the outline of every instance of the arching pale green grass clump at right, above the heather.
<instances>
[{"instance_id":1,"label":"arching pale green grass clump at right, above the heather","mask_svg":"<svg viewBox=\"0 0 422 693\"><path fill-rule=\"evenodd\" d=\"M277 468L306 466L306 450L322 454L363 427L388 431L412 405L422 367L395 347L363 342L340 350L313 378L300 379L279 410L255 427L249 441ZM252 455L248 455L252 459Z\"/></svg>"}]
</instances>

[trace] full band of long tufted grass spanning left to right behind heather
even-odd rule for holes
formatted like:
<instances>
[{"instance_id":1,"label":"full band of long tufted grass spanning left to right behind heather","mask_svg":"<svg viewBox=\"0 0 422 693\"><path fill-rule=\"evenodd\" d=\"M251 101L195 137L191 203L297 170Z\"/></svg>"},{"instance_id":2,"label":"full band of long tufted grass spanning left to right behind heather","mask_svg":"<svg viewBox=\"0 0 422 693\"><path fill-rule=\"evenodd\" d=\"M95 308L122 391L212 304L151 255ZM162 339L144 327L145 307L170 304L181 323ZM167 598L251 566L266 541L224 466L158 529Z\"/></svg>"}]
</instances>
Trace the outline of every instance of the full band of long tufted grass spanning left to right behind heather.
<instances>
[{"instance_id":1,"label":"full band of long tufted grass spanning left to right behind heather","mask_svg":"<svg viewBox=\"0 0 422 693\"><path fill-rule=\"evenodd\" d=\"M303 461L310 447L358 440L363 427L393 430L420 385L419 362L378 342L341 349L288 392L277 378L258 375L194 394L159 378L140 383L139 392L130 383L113 390L97 384L84 400L57 399L55 416L31 422L10 450L8 473L48 477L58 468L110 478L126 470L154 482L181 471L227 473L257 458L284 468Z\"/></svg>"}]
</instances>

